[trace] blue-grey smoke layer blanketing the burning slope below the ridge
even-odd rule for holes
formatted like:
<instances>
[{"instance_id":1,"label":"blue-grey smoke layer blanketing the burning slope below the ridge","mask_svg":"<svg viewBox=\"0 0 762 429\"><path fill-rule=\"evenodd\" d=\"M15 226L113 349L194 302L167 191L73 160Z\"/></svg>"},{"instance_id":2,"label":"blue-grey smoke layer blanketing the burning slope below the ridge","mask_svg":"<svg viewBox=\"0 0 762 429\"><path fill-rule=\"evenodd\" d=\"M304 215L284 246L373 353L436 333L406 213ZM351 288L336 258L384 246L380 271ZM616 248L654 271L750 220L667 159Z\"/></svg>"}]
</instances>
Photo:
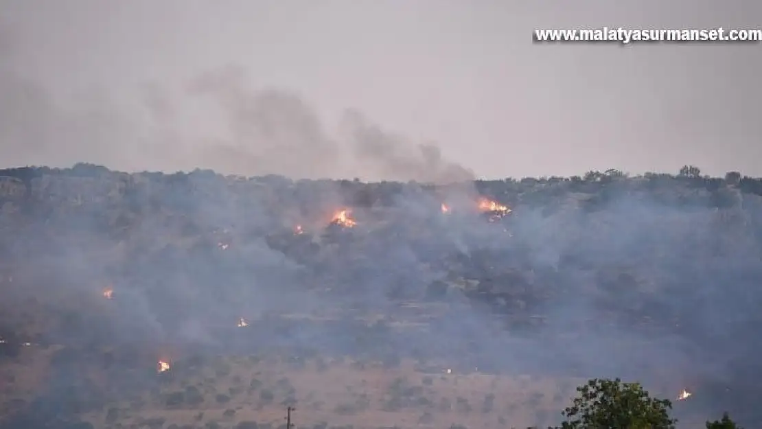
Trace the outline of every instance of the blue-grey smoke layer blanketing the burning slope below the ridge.
<instances>
[{"instance_id":1,"label":"blue-grey smoke layer blanketing the burning slope below the ridge","mask_svg":"<svg viewBox=\"0 0 762 429\"><path fill-rule=\"evenodd\" d=\"M3 213L14 277L3 287L11 306L40 312L27 320L49 322L35 341L66 346L47 406L77 367L103 363L104 347L124 367L108 369L111 395L145 386L128 368L148 368L151 383L160 354L181 366L196 354L286 347L458 371L622 376L662 395L693 389L679 412L748 412L739 398L757 389L759 197L679 179L659 184L664 197L648 183L448 192L48 171L24 211ZM474 199L495 190L513 212L489 222ZM327 225L341 208L356 226ZM113 299L101 296L107 286ZM535 316L544 322L516 322ZM23 320L10 322L24 332Z\"/></svg>"}]
</instances>

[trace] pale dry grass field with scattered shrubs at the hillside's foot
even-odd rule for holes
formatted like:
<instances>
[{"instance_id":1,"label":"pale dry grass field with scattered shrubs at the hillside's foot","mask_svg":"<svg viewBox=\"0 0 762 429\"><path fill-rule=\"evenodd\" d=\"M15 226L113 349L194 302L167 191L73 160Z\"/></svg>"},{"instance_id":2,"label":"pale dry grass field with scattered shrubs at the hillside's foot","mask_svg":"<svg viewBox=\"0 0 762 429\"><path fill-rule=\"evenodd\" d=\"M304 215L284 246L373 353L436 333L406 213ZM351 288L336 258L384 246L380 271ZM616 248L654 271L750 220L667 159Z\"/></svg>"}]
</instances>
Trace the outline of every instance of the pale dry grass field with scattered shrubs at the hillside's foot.
<instances>
[{"instance_id":1,"label":"pale dry grass field with scattered shrubs at the hillside's foot","mask_svg":"<svg viewBox=\"0 0 762 429\"><path fill-rule=\"evenodd\" d=\"M165 378L160 389L86 418L95 427L279 427L293 405L297 427L527 427L557 423L584 381L435 373L412 360L389 368L349 358L228 357L158 376Z\"/></svg>"}]
</instances>

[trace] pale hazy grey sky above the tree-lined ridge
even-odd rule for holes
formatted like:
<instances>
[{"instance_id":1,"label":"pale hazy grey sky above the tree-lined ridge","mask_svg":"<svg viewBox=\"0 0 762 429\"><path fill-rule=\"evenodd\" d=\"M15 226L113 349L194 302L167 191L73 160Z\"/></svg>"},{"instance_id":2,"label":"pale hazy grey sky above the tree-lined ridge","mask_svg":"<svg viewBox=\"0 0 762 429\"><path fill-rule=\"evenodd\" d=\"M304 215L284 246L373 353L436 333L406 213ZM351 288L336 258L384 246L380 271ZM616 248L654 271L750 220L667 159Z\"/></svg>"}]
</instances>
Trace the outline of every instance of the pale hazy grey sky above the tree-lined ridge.
<instances>
[{"instance_id":1,"label":"pale hazy grey sky above the tree-lined ridge","mask_svg":"<svg viewBox=\"0 0 762 429\"><path fill-rule=\"evenodd\" d=\"M762 2L0 0L0 159L374 178L434 143L479 177L762 176L762 45L532 43L604 25L762 28Z\"/></svg>"}]
</instances>

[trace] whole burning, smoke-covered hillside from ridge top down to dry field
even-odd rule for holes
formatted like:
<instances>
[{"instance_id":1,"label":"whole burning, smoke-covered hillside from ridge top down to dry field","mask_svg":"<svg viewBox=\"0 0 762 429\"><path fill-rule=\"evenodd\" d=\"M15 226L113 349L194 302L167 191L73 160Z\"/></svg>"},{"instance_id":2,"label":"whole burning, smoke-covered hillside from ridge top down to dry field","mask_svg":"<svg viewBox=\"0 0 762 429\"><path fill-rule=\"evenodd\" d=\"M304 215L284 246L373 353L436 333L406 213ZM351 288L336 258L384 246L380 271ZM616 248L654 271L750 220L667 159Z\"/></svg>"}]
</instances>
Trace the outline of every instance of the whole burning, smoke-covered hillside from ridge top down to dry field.
<instances>
[{"instance_id":1,"label":"whole burning, smoke-covered hillside from ridge top down to dry field","mask_svg":"<svg viewBox=\"0 0 762 429\"><path fill-rule=\"evenodd\" d=\"M762 179L79 164L0 210L0 427L526 427L593 376L762 424Z\"/></svg>"}]
</instances>

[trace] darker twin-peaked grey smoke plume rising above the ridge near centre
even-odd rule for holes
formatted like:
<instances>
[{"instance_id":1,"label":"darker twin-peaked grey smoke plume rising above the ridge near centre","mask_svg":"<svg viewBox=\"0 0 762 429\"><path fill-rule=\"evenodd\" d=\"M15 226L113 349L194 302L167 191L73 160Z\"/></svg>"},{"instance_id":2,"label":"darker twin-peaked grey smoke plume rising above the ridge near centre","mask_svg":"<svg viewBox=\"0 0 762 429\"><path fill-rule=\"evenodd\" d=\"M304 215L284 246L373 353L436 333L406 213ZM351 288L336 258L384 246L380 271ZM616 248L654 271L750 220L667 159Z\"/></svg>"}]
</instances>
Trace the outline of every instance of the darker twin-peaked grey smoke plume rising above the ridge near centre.
<instances>
[{"instance_id":1,"label":"darker twin-peaked grey smoke plume rising above the ridge near centre","mask_svg":"<svg viewBox=\"0 0 762 429\"><path fill-rule=\"evenodd\" d=\"M272 88L252 91L240 68L203 75L190 91L213 98L223 110L231 138L206 149L209 156L205 157L210 162L207 166L218 171L430 183L474 177L466 168L443 159L436 145L417 146L368 122L357 110L347 111L341 137L332 137L296 94Z\"/></svg>"}]
</instances>

